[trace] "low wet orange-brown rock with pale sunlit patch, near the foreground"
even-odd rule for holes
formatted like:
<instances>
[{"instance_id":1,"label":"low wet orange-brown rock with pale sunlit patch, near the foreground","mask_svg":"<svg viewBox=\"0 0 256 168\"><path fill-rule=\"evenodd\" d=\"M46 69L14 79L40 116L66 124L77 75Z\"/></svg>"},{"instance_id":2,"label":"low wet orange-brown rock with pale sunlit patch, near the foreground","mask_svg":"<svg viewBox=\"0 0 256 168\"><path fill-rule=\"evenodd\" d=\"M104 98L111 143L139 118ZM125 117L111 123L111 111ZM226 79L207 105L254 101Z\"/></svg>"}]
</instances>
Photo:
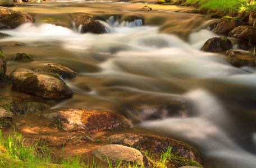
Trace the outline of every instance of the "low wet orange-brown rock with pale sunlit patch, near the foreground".
<instances>
[{"instance_id":1,"label":"low wet orange-brown rock with pale sunlit patch, near the foreground","mask_svg":"<svg viewBox=\"0 0 256 168\"><path fill-rule=\"evenodd\" d=\"M85 133L104 129L130 128L124 116L104 110L52 109L43 114L52 120L54 127L68 132L80 130Z\"/></svg>"}]
</instances>

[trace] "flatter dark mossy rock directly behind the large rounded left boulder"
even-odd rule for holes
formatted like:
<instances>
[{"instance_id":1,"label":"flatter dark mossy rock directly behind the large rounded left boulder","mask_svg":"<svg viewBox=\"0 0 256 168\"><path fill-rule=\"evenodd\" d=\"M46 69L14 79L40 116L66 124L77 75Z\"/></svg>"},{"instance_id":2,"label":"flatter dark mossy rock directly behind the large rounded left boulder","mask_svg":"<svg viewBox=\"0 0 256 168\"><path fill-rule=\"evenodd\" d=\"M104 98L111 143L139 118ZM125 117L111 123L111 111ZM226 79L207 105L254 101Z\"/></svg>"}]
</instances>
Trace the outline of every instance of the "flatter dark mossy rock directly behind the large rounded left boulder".
<instances>
[{"instance_id":1,"label":"flatter dark mossy rock directly behind the large rounded left boulder","mask_svg":"<svg viewBox=\"0 0 256 168\"><path fill-rule=\"evenodd\" d=\"M62 78L72 78L76 76L76 72L74 72L72 69L56 63L42 64L42 66L38 66L34 68L33 71L49 72L49 73L57 74Z\"/></svg>"}]
</instances>

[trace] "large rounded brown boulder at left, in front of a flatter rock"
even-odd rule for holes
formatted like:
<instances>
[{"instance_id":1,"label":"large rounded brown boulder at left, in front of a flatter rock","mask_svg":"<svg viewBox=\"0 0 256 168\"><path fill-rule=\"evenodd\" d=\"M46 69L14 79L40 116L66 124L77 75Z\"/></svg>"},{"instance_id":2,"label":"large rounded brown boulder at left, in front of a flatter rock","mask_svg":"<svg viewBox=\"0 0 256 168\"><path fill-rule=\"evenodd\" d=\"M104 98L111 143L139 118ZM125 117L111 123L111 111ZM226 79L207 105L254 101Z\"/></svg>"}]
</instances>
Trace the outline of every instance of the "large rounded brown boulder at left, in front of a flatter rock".
<instances>
[{"instance_id":1,"label":"large rounded brown boulder at left, in front of a flatter rock","mask_svg":"<svg viewBox=\"0 0 256 168\"><path fill-rule=\"evenodd\" d=\"M73 95L71 88L65 82L30 69L13 70L10 80L18 90L48 99L64 99Z\"/></svg>"}]
</instances>

